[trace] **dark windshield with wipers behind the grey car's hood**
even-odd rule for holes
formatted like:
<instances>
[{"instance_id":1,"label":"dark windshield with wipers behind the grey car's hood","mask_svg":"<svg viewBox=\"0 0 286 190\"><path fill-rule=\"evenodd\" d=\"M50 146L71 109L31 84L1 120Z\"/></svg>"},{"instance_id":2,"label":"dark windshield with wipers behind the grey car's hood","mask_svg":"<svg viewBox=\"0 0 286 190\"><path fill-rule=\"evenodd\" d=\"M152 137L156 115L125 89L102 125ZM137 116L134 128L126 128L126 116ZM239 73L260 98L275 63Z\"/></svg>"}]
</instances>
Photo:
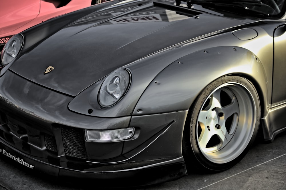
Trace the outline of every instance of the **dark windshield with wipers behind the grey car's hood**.
<instances>
[{"instance_id":1,"label":"dark windshield with wipers behind the grey car's hood","mask_svg":"<svg viewBox=\"0 0 286 190\"><path fill-rule=\"evenodd\" d=\"M285 13L285 0L175 0L177 6L223 10L241 15L280 18Z\"/></svg>"}]
</instances>

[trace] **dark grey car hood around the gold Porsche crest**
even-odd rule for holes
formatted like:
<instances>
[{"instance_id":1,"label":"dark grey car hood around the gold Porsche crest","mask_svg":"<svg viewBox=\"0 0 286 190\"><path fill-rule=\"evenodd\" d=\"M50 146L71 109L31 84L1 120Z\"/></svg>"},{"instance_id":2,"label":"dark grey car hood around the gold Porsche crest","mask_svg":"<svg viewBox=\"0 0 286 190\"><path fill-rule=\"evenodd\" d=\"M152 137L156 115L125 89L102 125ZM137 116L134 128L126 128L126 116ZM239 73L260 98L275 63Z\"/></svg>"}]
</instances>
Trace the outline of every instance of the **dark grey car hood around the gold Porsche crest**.
<instances>
[{"instance_id":1,"label":"dark grey car hood around the gold Porsche crest","mask_svg":"<svg viewBox=\"0 0 286 190\"><path fill-rule=\"evenodd\" d=\"M144 56L245 24L207 13L182 12L154 6L150 1L116 4L58 30L21 56L10 70L39 85L76 96L113 70ZM44 74L49 66L54 70Z\"/></svg>"}]
</instances>

